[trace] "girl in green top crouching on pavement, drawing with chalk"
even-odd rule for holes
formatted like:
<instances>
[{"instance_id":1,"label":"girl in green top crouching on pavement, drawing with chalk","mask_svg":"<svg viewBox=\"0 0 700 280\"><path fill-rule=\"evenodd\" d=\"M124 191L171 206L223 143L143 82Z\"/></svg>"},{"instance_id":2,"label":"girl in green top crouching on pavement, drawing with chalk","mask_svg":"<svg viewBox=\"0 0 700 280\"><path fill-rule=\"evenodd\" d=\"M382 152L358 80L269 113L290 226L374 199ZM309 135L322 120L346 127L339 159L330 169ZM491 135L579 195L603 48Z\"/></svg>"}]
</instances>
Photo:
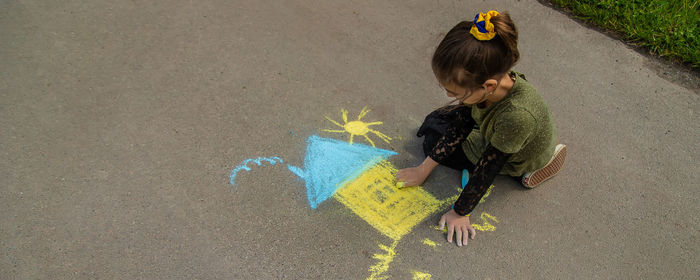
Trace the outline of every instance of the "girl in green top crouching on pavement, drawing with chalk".
<instances>
[{"instance_id":1,"label":"girl in green top crouching on pavement, drawing with chalk","mask_svg":"<svg viewBox=\"0 0 700 280\"><path fill-rule=\"evenodd\" d=\"M520 178L534 188L564 165L566 146L556 145L551 112L525 76L511 71L518 61L518 33L507 13L479 13L453 27L432 59L438 82L455 98L428 115L418 130L426 158L399 170L405 186L420 185L442 164L468 170L469 181L452 209L440 219L447 241L467 244L476 231L469 213L496 174Z\"/></svg>"}]
</instances>

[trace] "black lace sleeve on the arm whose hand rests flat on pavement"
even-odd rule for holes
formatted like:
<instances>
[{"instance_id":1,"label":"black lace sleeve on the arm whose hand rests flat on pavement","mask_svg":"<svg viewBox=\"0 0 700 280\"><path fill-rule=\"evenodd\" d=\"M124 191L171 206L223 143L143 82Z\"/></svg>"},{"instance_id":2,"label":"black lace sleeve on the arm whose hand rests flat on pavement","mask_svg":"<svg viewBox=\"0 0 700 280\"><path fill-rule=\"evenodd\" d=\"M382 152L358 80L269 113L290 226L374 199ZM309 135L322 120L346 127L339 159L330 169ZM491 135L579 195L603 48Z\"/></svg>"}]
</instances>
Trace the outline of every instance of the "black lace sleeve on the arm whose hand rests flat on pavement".
<instances>
[{"instance_id":1,"label":"black lace sleeve on the arm whose hand rests flat on pavement","mask_svg":"<svg viewBox=\"0 0 700 280\"><path fill-rule=\"evenodd\" d=\"M459 195L454 204L453 208L457 214L464 216L474 210L511 155L503 153L491 145L486 148L476 164L474 172L469 175L469 183L464 187L462 194Z\"/></svg>"}]
</instances>

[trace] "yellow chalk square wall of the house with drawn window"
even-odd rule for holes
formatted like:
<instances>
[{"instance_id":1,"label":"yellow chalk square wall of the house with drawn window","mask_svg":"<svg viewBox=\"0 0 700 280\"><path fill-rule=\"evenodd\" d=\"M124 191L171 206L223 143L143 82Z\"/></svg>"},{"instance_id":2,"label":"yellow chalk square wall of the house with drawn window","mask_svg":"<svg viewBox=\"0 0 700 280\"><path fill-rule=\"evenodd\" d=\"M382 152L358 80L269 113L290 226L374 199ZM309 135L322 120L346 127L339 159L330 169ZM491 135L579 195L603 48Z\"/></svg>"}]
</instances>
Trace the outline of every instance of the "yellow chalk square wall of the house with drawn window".
<instances>
[{"instance_id":1,"label":"yellow chalk square wall of the house with drawn window","mask_svg":"<svg viewBox=\"0 0 700 280\"><path fill-rule=\"evenodd\" d=\"M396 171L382 161L338 189L335 198L382 234L399 240L443 201L421 187L398 189Z\"/></svg>"}]
</instances>

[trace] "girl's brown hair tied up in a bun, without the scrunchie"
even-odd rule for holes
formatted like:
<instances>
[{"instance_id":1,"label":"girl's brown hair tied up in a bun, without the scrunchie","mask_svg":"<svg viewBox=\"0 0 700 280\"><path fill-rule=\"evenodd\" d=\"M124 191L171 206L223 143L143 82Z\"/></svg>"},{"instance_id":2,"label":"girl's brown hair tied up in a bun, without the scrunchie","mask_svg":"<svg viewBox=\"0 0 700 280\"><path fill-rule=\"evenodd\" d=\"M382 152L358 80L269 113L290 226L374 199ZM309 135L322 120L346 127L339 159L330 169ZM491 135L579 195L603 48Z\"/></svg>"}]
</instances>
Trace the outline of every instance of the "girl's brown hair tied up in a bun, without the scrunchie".
<instances>
[{"instance_id":1,"label":"girl's brown hair tied up in a bun, without the scrunchie","mask_svg":"<svg viewBox=\"0 0 700 280\"><path fill-rule=\"evenodd\" d=\"M508 72L518 59L518 31L508 13L491 17L496 37L479 41L469 33L474 22L455 25L433 54L432 67L441 83L473 89Z\"/></svg>"}]
</instances>

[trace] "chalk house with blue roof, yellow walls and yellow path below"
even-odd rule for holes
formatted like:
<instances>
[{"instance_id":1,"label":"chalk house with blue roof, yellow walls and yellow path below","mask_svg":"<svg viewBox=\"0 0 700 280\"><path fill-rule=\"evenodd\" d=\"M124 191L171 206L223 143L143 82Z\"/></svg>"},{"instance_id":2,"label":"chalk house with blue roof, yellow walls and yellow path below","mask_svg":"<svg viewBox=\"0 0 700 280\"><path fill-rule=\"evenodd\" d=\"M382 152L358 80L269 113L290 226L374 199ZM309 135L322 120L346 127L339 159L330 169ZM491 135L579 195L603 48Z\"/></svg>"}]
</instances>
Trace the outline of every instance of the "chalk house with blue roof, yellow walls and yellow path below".
<instances>
[{"instance_id":1,"label":"chalk house with blue roof, yellow walls and yellow path below","mask_svg":"<svg viewBox=\"0 0 700 280\"><path fill-rule=\"evenodd\" d=\"M401 237L446 204L420 187L399 190L397 169L386 160L393 155L393 151L312 135L304 169L288 165L305 181L312 209L333 196L393 240L391 246L379 245L384 253L374 255L378 262L370 267L367 279L386 279L382 274L389 269Z\"/></svg>"}]
</instances>

